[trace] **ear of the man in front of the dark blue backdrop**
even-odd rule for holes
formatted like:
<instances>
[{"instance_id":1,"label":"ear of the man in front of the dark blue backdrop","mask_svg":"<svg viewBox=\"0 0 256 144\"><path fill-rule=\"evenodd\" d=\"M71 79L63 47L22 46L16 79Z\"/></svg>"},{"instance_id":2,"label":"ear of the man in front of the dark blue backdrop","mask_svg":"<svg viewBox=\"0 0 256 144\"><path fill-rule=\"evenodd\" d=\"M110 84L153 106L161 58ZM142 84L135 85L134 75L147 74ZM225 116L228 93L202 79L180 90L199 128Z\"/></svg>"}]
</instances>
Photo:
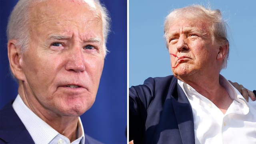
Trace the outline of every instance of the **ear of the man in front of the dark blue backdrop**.
<instances>
[{"instance_id":1,"label":"ear of the man in front of the dark blue backdrop","mask_svg":"<svg viewBox=\"0 0 256 144\"><path fill-rule=\"evenodd\" d=\"M8 48L8 59L10 63L10 69L12 74L18 80L24 80L25 75L21 67L22 63L22 54L20 46L17 46L17 40L9 40L7 44Z\"/></svg>"}]
</instances>

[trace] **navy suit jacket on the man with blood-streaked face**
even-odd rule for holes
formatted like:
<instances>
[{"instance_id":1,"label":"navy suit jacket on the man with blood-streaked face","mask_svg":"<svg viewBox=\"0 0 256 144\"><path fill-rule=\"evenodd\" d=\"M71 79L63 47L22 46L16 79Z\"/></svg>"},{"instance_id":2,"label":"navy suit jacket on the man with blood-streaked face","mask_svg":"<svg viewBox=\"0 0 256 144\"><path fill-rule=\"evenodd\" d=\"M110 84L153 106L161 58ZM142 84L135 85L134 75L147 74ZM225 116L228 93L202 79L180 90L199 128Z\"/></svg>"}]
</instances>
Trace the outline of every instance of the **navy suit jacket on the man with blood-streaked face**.
<instances>
[{"instance_id":1,"label":"navy suit jacket on the man with blood-streaked face","mask_svg":"<svg viewBox=\"0 0 256 144\"><path fill-rule=\"evenodd\" d=\"M192 108L174 76L148 78L129 90L129 141L194 144Z\"/></svg>"}]
</instances>

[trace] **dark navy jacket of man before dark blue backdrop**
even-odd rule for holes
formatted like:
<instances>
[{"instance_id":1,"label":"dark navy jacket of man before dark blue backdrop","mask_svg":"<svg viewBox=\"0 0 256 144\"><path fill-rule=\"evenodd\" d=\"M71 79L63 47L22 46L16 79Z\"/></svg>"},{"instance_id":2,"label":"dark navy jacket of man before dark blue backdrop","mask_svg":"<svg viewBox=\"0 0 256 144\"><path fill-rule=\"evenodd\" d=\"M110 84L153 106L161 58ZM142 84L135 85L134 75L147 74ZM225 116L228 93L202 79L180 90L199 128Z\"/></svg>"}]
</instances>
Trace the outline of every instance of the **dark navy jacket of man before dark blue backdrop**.
<instances>
[{"instance_id":1,"label":"dark navy jacket of man before dark blue backdrop","mask_svg":"<svg viewBox=\"0 0 256 144\"><path fill-rule=\"evenodd\" d=\"M102 144L85 135L85 144ZM24 124L12 108L12 102L0 110L0 144L34 144Z\"/></svg>"}]
</instances>

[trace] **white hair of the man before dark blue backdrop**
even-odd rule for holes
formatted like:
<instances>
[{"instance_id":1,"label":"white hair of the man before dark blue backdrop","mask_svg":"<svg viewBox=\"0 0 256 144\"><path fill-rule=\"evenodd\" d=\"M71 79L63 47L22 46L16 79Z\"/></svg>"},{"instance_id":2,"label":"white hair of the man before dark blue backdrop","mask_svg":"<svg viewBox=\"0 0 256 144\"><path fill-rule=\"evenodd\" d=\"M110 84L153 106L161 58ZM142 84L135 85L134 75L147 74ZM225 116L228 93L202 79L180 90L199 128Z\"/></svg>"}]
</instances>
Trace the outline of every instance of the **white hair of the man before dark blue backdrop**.
<instances>
[{"instance_id":1,"label":"white hair of the man before dark blue backdrop","mask_svg":"<svg viewBox=\"0 0 256 144\"><path fill-rule=\"evenodd\" d=\"M19 0L12 13L10 14L7 25L7 38L17 40L17 45L21 47L21 52L27 49L30 34L29 34L29 19L30 19L30 6L43 2L45 0ZM93 0L100 10L102 16L102 29L103 29L103 49L104 56L106 56L108 50L106 48L106 42L108 34L110 32L110 16L106 7L100 3L99 0Z\"/></svg>"}]
</instances>

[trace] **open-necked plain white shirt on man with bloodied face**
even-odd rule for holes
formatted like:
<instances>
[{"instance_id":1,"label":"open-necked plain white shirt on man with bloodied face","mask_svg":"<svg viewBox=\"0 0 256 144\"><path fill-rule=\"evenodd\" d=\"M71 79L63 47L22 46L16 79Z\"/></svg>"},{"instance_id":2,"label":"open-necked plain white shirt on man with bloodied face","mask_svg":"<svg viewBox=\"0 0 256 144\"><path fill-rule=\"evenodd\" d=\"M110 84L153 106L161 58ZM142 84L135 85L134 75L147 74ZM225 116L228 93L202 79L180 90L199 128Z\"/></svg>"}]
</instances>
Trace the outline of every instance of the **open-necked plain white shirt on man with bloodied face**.
<instances>
[{"instance_id":1,"label":"open-necked plain white shirt on man with bloodied face","mask_svg":"<svg viewBox=\"0 0 256 144\"><path fill-rule=\"evenodd\" d=\"M208 98L178 80L194 117L196 144L256 144L256 101L249 102L223 76L220 83L233 100L223 114Z\"/></svg>"}]
</instances>

